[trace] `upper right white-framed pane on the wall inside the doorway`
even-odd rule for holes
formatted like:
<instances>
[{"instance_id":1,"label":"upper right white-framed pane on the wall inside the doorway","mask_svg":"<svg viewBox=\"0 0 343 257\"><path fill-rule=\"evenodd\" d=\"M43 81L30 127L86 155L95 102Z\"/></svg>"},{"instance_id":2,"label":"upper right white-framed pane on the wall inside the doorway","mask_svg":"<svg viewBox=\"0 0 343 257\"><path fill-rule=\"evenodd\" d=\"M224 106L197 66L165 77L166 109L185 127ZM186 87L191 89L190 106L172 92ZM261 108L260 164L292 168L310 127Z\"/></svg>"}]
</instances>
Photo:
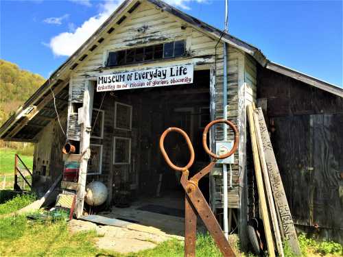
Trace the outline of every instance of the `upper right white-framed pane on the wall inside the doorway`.
<instances>
[{"instance_id":1,"label":"upper right white-framed pane on the wall inside the doorway","mask_svg":"<svg viewBox=\"0 0 343 257\"><path fill-rule=\"evenodd\" d=\"M125 103L115 103L115 129L131 130L132 106Z\"/></svg>"}]
</instances>

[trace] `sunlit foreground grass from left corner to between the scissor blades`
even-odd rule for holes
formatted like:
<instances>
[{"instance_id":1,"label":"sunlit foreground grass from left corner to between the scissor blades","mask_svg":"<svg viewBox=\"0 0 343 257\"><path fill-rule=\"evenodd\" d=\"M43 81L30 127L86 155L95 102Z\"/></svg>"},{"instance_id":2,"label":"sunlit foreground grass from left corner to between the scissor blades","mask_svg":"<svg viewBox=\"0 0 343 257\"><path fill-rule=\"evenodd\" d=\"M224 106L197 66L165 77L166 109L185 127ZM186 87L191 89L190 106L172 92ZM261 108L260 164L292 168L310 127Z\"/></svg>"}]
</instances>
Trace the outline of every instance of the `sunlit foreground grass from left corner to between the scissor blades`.
<instances>
[{"instance_id":1,"label":"sunlit foreground grass from left corner to between the scissor blades","mask_svg":"<svg viewBox=\"0 0 343 257\"><path fill-rule=\"evenodd\" d=\"M113 256L175 257L183 256L184 245L176 239L165 241L154 249L119 254L97 249L96 232L71 234L65 221L29 221L25 216L0 219L0 256ZM221 256L208 235L198 236L197 256Z\"/></svg>"}]
</instances>

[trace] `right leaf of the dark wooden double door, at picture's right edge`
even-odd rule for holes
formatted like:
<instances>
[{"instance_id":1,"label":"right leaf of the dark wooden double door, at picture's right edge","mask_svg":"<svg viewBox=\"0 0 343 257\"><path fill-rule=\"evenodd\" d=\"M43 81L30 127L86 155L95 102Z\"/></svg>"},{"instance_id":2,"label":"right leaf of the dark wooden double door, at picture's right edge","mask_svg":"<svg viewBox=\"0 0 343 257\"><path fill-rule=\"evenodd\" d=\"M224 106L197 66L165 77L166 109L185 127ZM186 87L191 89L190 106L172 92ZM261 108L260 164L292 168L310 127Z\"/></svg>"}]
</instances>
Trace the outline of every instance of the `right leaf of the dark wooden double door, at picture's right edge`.
<instances>
[{"instance_id":1,"label":"right leaf of the dark wooden double door, at picture's right edge","mask_svg":"<svg viewBox=\"0 0 343 257\"><path fill-rule=\"evenodd\" d=\"M343 229L343 114L311 115L310 220Z\"/></svg>"}]
</instances>

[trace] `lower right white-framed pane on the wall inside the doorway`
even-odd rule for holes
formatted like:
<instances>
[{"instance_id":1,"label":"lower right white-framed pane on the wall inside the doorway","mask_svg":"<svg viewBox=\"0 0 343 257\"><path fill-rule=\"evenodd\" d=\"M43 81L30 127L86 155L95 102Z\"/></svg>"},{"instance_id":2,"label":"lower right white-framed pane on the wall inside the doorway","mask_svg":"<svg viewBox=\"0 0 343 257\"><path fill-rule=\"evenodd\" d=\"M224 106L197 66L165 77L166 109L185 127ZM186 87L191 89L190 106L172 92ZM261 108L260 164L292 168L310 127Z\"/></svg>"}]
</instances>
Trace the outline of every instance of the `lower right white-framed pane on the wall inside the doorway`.
<instances>
[{"instance_id":1,"label":"lower right white-framed pane on the wall inside the doorway","mask_svg":"<svg viewBox=\"0 0 343 257\"><path fill-rule=\"evenodd\" d=\"M113 164L130 164L131 138L115 136L113 140Z\"/></svg>"}]
</instances>

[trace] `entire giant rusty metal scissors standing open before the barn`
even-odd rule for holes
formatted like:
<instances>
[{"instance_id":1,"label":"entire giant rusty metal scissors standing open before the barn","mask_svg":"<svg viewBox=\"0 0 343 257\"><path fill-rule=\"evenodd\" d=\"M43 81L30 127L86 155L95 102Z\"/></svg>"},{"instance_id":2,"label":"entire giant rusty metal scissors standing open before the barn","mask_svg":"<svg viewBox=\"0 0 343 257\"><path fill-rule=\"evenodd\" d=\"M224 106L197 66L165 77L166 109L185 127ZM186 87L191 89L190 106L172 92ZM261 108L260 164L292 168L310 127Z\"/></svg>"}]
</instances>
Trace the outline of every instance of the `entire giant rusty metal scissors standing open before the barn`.
<instances>
[{"instance_id":1,"label":"entire giant rusty metal scissors standing open before the barn","mask_svg":"<svg viewBox=\"0 0 343 257\"><path fill-rule=\"evenodd\" d=\"M211 126L215 125L216 123L226 123L229 125L233 132L235 132L235 143L233 144L233 148L228 151L228 153L223 154L222 156L217 156L216 154L213 154L209 147L207 146L207 133L209 132L209 129ZM188 164L185 167L178 167L171 160L169 159L167 152L165 151L164 147L164 140L165 136L169 132L178 132L181 134L188 145L188 149L191 153L191 158L188 162ZM224 256L235 256L235 253L231 249L230 245L228 244L228 241L226 240L224 233L222 231L222 228L220 228L219 223L217 222L217 219L215 219L215 215L213 214L209 204L207 204L206 199L204 198L204 195L202 195L199 187L198 182L199 180L204 177L207 173L209 173L213 167L215 166L215 163L218 159L224 159L228 158L232 154L235 153L238 147L238 131L237 127L233 125L230 121L226 121L224 119L211 121L208 125L206 125L204 129L204 133L202 134L202 146L204 147L204 150L206 151L209 156L212 157L211 162L209 165L207 165L204 169L196 173L196 175L193 175L192 178L188 178L189 175L189 168L194 162L195 154L193 145L191 143L191 140L189 140L189 136L187 133L183 130L181 130L178 127L169 127L160 138L160 149L162 151L163 157L165 158L165 161L167 164L171 167L171 169L174 169L176 171L181 171L181 184L182 187L185 189L185 256L187 257L193 257L196 256L196 223L197 223L197 213L204 221L204 224L206 225L207 230L209 230L210 234L213 236L213 239L215 240L215 243L217 243L217 246L220 248L220 251Z\"/></svg>"}]
</instances>

